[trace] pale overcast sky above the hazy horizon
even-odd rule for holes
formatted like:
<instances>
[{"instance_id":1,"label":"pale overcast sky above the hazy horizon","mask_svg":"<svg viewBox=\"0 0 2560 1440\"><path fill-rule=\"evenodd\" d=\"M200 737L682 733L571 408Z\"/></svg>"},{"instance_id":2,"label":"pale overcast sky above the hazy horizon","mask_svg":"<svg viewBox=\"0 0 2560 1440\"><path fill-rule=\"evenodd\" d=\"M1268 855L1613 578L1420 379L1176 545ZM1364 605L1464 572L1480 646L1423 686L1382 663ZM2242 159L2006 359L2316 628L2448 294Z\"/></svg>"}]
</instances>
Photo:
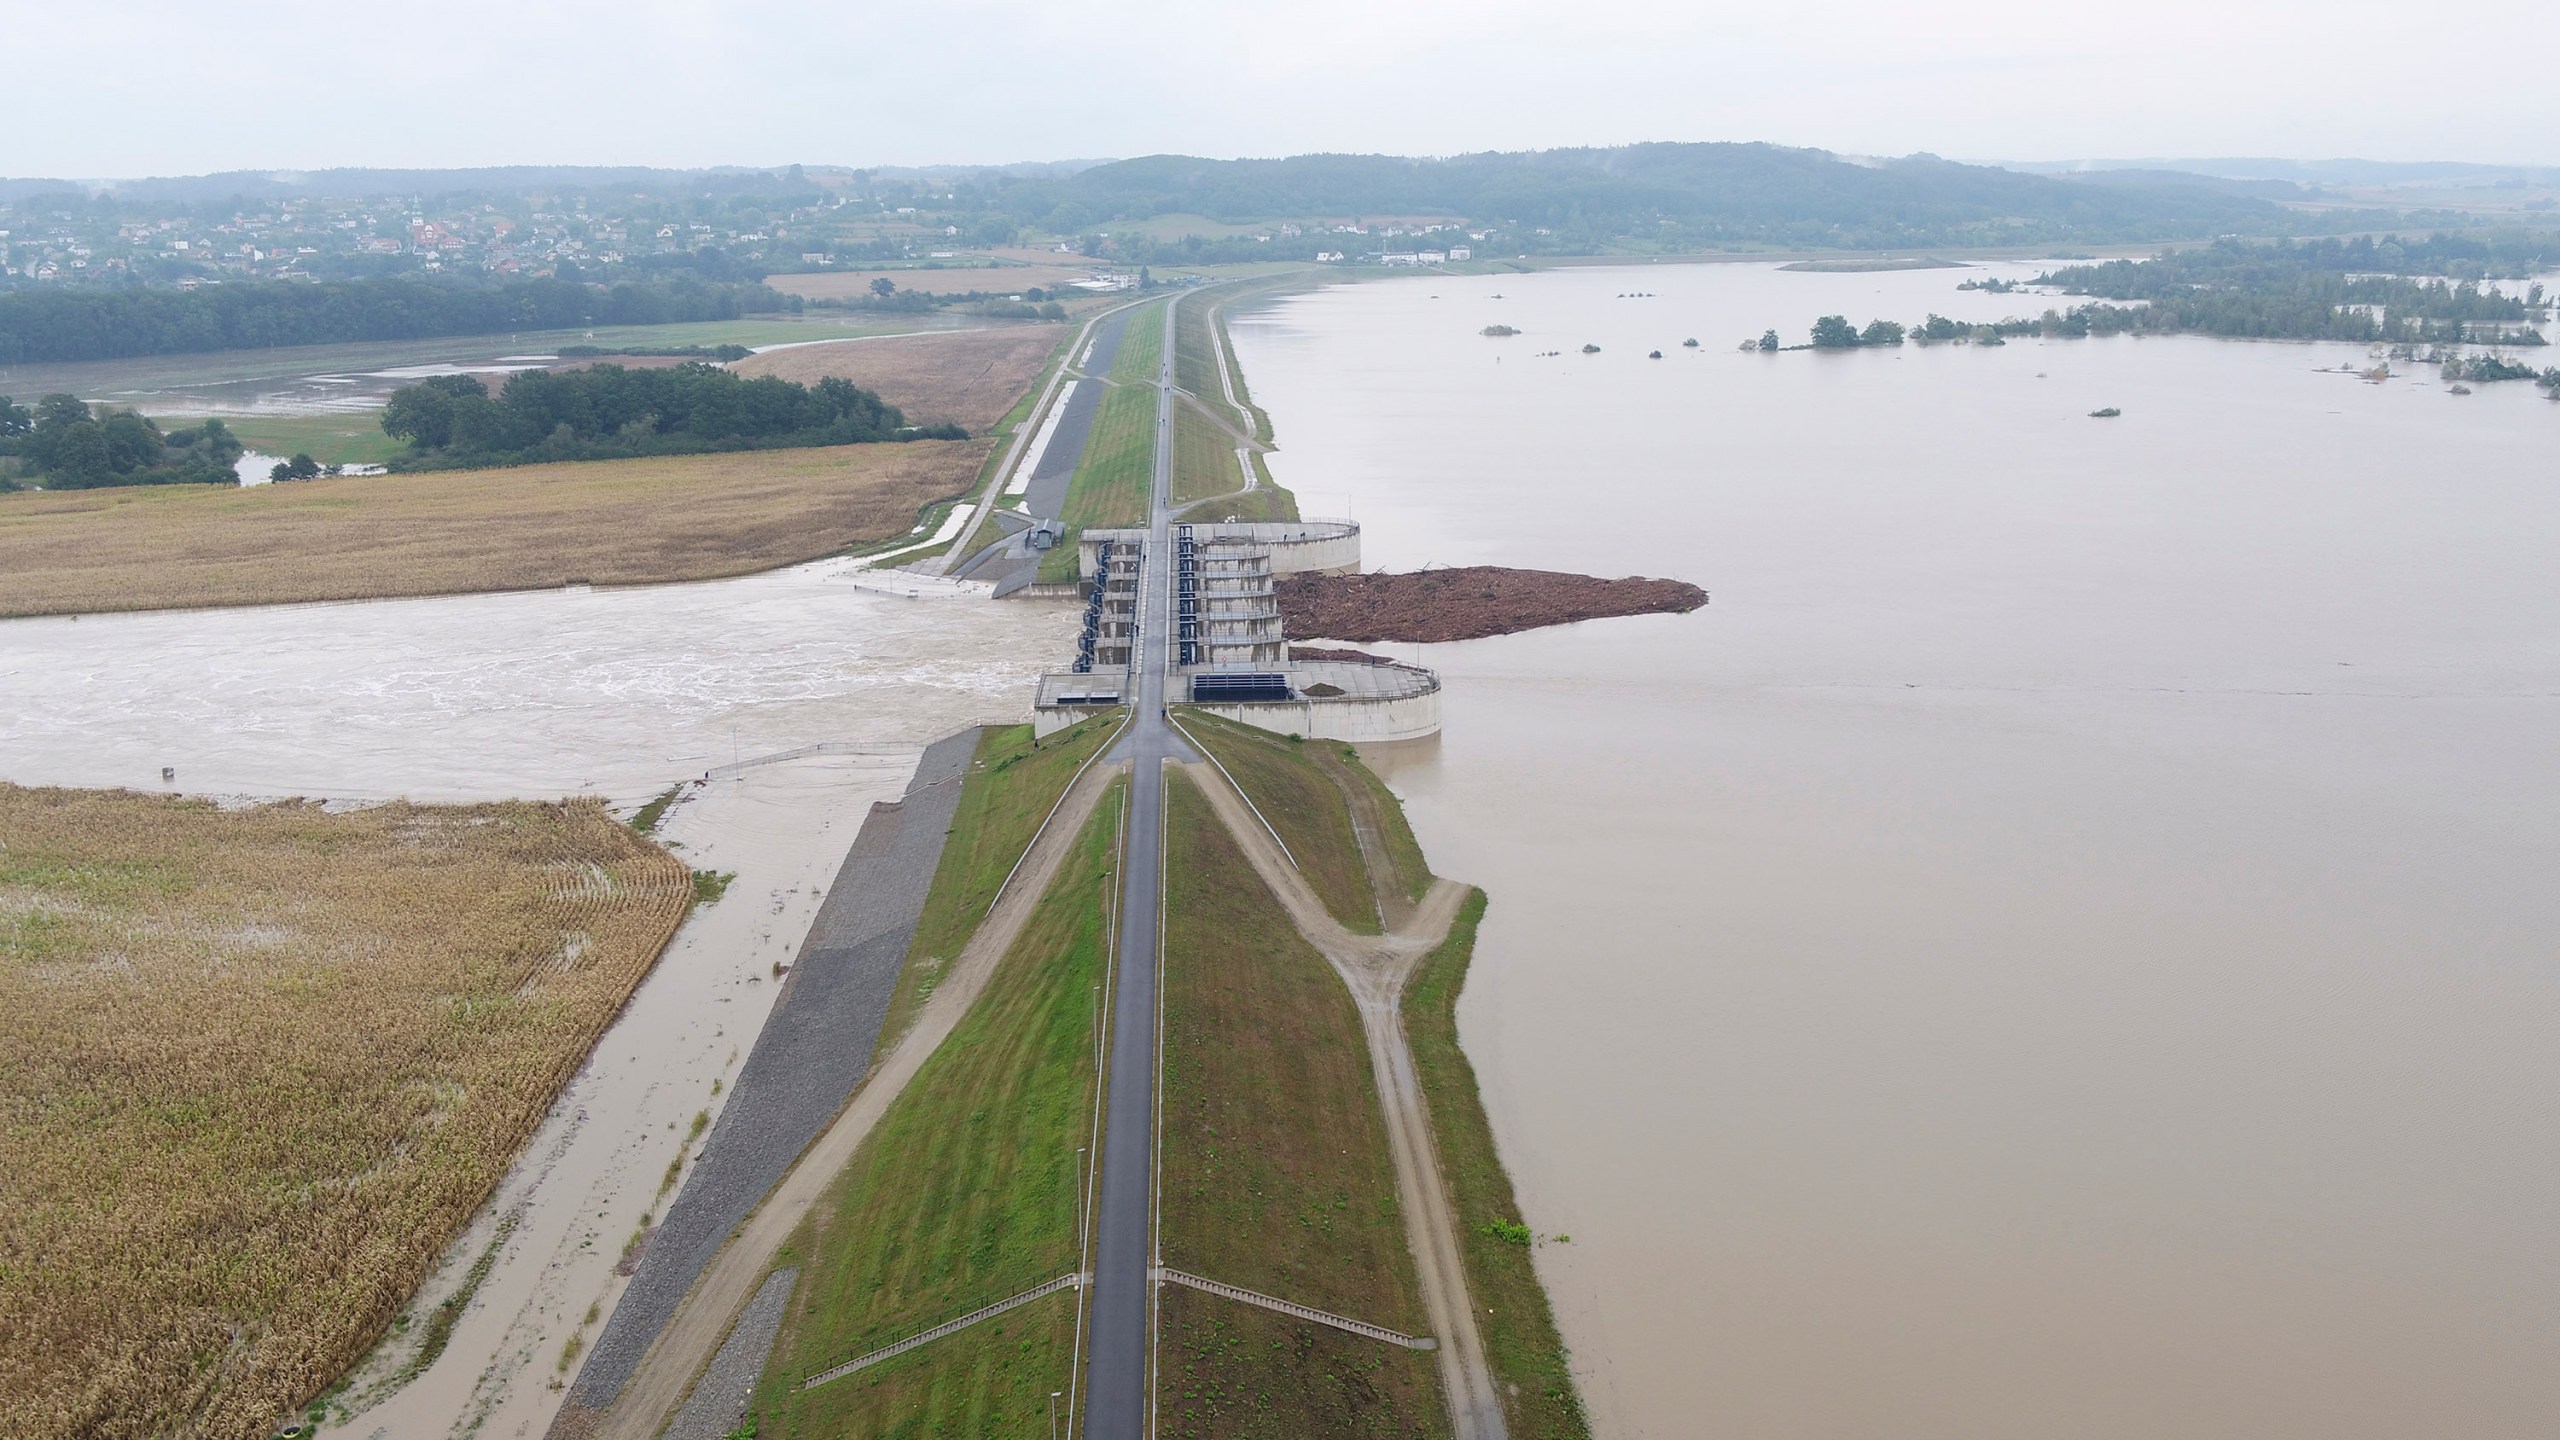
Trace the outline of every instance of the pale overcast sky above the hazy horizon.
<instances>
[{"instance_id":1,"label":"pale overcast sky above the hazy horizon","mask_svg":"<svg viewBox=\"0 0 2560 1440\"><path fill-rule=\"evenodd\" d=\"M18 177L1626 141L2560 164L2550 0L13 0L0 36Z\"/></svg>"}]
</instances>

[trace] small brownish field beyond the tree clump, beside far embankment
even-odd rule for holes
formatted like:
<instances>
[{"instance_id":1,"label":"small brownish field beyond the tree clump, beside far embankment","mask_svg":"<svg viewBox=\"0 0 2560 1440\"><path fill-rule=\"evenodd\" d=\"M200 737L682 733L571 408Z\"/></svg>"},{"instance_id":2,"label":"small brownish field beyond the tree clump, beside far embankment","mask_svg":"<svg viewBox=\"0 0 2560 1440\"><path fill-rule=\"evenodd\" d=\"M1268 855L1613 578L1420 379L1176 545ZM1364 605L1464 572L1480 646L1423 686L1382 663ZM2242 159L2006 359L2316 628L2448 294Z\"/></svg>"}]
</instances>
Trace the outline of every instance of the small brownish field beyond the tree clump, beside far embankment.
<instances>
[{"instance_id":1,"label":"small brownish field beyond the tree clump, beside far embankment","mask_svg":"<svg viewBox=\"0 0 2560 1440\"><path fill-rule=\"evenodd\" d=\"M983 436L1021 392L1039 379L1075 331L1065 325L1011 325L1004 331L947 331L937 336L883 336L794 346L748 356L737 374L778 374L799 384L845 377L876 389L906 413L911 425L952 423Z\"/></svg>"}]
</instances>

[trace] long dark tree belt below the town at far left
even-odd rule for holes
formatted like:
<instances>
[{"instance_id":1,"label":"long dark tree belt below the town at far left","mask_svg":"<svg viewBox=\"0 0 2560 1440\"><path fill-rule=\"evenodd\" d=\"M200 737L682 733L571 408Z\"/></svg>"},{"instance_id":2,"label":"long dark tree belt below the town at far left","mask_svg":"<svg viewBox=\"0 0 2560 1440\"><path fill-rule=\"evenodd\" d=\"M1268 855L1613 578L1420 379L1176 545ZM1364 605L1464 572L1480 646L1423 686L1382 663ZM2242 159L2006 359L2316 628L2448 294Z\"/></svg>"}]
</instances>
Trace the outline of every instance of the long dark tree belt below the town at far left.
<instances>
[{"instance_id":1,"label":"long dark tree belt below the town at far left","mask_svg":"<svg viewBox=\"0 0 2560 1440\"><path fill-rule=\"evenodd\" d=\"M691 277L609 290L568 279L18 290L0 295L0 364L502 336L579 325L666 325L799 307L796 295L781 295L763 284Z\"/></svg>"}]
</instances>

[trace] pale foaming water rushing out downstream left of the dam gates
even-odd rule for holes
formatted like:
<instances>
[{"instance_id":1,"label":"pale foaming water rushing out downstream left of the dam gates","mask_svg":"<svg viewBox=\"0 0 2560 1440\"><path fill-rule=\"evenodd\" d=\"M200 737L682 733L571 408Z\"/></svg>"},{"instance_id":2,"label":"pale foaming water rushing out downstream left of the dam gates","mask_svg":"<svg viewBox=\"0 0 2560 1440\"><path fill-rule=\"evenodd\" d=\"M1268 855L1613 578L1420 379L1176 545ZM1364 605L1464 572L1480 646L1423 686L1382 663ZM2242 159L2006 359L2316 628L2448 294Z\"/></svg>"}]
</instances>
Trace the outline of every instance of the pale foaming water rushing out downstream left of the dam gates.
<instances>
[{"instance_id":1,"label":"pale foaming water rushing out downstream left of the dam gates","mask_svg":"<svg viewBox=\"0 0 2560 1440\"><path fill-rule=\"evenodd\" d=\"M1042 605L829 566L573 589L0 623L0 776L328 797L648 794L812 740L1027 712Z\"/></svg>"}]
</instances>

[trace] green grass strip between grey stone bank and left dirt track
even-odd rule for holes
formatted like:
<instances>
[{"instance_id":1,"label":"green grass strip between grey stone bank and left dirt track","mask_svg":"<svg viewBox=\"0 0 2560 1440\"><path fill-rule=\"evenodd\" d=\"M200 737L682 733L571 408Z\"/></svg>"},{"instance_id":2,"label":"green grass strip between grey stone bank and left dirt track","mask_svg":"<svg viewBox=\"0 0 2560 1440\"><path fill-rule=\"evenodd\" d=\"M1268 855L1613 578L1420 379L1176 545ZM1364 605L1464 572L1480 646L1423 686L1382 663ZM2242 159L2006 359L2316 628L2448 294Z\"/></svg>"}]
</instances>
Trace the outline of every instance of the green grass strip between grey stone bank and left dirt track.
<instances>
[{"instance_id":1,"label":"green grass strip between grey stone bank and left dirt track","mask_svg":"<svg viewBox=\"0 0 2560 1440\"><path fill-rule=\"evenodd\" d=\"M942 979L942 966L978 933L986 910L996 904L996 889L1032 848L1032 835L1068 792L1068 781L1116 733L1114 712L1047 740L1034 740L1029 725L988 728L978 735L978 756L960 781L960 807L952 812L950 838L942 840L934 889L906 948L906 969L899 971L899 989L888 999L876 1058L906 1035L916 1010Z\"/></svg>"}]
</instances>

